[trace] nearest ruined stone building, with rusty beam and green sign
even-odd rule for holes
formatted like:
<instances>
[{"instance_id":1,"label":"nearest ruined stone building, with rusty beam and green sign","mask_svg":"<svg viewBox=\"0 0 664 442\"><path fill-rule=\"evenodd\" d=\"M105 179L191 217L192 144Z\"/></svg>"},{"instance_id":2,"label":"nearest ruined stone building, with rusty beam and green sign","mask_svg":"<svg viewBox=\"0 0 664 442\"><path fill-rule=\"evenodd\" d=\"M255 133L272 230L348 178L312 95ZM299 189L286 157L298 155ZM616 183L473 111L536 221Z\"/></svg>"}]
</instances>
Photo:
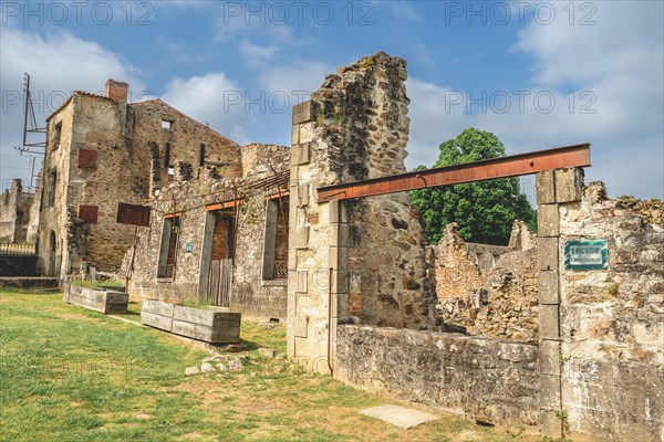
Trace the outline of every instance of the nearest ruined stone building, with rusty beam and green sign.
<instances>
[{"instance_id":1,"label":"nearest ruined stone building, with rusty beam and green sign","mask_svg":"<svg viewBox=\"0 0 664 442\"><path fill-rule=\"evenodd\" d=\"M450 227L432 253L406 194L354 198L343 186L377 189L404 171L405 78L403 60L378 53L293 108L289 357L497 425L662 440L661 202L606 200L579 167L543 170L537 240L517 229L509 248L461 244ZM606 245L600 267L571 266L580 241ZM467 308L439 317L448 301Z\"/></svg>"}]
</instances>

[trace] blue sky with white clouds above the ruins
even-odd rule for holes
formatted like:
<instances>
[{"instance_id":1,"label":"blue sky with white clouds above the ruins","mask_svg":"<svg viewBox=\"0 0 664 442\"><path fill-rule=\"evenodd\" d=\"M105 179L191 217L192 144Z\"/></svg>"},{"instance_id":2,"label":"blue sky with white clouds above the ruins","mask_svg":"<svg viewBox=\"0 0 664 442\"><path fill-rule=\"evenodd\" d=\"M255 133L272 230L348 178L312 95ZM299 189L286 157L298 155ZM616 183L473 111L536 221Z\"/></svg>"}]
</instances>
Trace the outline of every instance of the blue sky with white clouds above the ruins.
<instances>
[{"instance_id":1,"label":"blue sky with white clouds above the ruins","mask_svg":"<svg viewBox=\"0 0 664 442\"><path fill-rule=\"evenodd\" d=\"M74 90L129 83L240 144L290 143L290 107L336 67L406 59L406 165L466 127L508 154L592 143L589 180L664 198L661 1L2 1L1 179L18 156L23 72L41 122ZM38 162L41 157L37 156ZM523 180L531 194L533 180Z\"/></svg>"}]
</instances>

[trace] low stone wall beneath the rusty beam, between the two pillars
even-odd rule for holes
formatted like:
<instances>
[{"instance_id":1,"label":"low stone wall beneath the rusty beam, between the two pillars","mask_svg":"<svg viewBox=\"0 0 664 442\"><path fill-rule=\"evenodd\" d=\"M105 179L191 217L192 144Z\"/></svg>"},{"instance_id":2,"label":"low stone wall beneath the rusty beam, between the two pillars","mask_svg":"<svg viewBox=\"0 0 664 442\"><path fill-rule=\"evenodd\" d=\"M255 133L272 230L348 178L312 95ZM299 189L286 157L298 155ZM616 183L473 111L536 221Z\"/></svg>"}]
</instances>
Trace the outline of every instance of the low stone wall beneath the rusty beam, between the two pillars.
<instances>
[{"instance_id":1,"label":"low stone wall beneath the rusty beam, between the two pillars","mask_svg":"<svg viewBox=\"0 0 664 442\"><path fill-rule=\"evenodd\" d=\"M535 430L539 349L437 332L338 327L335 377L372 392Z\"/></svg>"}]
</instances>

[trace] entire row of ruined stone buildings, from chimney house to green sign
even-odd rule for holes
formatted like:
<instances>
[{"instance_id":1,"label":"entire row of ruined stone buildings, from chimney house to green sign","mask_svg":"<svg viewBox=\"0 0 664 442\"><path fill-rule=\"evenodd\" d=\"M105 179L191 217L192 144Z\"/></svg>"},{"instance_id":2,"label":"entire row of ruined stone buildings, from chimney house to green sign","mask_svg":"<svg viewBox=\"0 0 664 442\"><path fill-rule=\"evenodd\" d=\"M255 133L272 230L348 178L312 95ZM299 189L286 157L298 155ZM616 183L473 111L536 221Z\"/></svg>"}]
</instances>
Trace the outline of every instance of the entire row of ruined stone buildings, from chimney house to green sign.
<instances>
[{"instance_id":1,"label":"entire row of ruined stone buildings, from chimney house to green sign","mask_svg":"<svg viewBox=\"0 0 664 442\"><path fill-rule=\"evenodd\" d=\"M134 299L286 319L300 364L483 422L662 440L661 203L608 200L589 161L542 168L537 238L517 222L508 246L468 244L449 225L432 248L407 193L340 190L406 171L406 76L385 53L328 75L293 107L290 147L127 104L124 83L74 93L48 120L44 271L87 263ZM120 202L148 210L118 223ZM602 266L570 265L579 241L605 245Z\"/></svg>"}]
</instances>

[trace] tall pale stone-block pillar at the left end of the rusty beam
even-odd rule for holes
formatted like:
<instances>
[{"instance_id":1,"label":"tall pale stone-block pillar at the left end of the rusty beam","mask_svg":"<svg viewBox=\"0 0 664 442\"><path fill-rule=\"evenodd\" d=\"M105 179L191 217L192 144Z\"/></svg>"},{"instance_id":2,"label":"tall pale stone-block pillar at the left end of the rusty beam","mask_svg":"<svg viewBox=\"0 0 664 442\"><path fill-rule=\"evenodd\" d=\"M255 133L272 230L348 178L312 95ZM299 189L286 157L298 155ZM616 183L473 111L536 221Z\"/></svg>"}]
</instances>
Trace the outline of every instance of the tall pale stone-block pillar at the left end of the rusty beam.
<instances>
[{"instance_id":1,"label":"tall pale stone-block pillar at the left end of the rusty beam","mask_svg":"<svg viewBox=\"0 0 664 442\"><path fill-rule=\"evenodd\" d=\"M309 101L293 107L287 344L290 358L315 371L329 372L338 316L330 313L329 299L343 285L338 261L345 249L343 239L340 240L342 206L319 204L315 199L319 168L325 154L312 157L315 127L312 107ZM332 304L336 305L334 299Z\"/></svg>"}]
</instances>

